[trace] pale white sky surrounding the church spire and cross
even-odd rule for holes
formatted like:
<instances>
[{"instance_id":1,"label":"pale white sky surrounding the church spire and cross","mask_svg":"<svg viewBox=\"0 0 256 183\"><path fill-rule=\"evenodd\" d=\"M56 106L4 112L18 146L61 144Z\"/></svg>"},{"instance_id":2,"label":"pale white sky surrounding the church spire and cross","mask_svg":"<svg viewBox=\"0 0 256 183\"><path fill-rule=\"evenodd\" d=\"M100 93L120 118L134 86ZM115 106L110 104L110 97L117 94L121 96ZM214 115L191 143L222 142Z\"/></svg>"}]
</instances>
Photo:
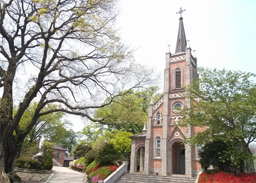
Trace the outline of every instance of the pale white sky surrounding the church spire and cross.
<instances>
[{"instance_id":1,"label":"pale white sky surrounding the church spire and cross","mask_svg":"<svg viewBox=\"0 0 256 183\"><path fill-rule=\"evenodd\" d=\"M162 76L167 45L175 53L180 7L185 9L186 39L196 50L198 66L256 73L255 0L120 0L118 6L116 27L123 42L136 49L137 63ZM81 130L80 120L74 122L75 131Z\"/></svg>"}]
</instances>

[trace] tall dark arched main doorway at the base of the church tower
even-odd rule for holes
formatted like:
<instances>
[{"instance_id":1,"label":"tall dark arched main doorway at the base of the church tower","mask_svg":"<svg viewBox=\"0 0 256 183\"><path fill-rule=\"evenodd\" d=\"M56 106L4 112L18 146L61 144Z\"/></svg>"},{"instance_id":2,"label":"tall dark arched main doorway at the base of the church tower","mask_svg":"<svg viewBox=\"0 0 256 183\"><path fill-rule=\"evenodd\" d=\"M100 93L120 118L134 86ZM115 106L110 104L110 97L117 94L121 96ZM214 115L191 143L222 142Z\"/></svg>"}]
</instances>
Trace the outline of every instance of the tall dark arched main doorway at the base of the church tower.
<instances>
[{"instance_id":1,"label":"tall dark arched main doorway at the base of the church tower","mask_svg":"<svg viewBox=\"0 0 256 183\"><path fill-rule=\"evenodd\" d=\"M181 142L175 142L172 145L172 172L185 174L185 147Z\"/></svg>"}]
</instances>

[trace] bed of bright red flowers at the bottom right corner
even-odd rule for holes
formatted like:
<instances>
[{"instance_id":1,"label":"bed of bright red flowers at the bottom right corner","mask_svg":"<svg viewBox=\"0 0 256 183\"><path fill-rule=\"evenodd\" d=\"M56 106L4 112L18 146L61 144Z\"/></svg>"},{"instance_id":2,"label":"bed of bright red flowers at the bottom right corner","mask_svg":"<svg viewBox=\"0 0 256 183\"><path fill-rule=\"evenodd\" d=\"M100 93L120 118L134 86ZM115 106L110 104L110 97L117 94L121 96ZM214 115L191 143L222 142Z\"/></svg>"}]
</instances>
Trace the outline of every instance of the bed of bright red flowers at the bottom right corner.
<instances>
[{"instance_id":1,"label":"bed of bright red flowers at the bottom right corner","mask_svg":"<svg viewBox=\"0 0 256 183\"><path fill-rule=\"evenodd\" d=\"M219 171L206 171L200 174L198 183L256 183L256 173L232 173Z\"/></svg>"}]
</instances>

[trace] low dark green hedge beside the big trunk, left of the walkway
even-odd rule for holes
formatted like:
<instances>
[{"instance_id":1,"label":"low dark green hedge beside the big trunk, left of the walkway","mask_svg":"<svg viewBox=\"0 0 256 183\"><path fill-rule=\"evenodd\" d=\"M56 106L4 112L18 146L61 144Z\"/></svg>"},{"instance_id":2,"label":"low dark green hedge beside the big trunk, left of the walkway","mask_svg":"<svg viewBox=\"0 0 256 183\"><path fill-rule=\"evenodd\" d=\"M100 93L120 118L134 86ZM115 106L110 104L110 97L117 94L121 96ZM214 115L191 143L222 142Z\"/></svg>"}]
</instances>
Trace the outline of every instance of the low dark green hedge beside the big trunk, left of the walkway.
<instances>
[{"instance_id":1,"label":"low dark green hedge beside the big trunk, left of the walkway","mask_svg":"<svg viewBox=\"0 0 256 183\"><path fill-rule=\"evenodd\" d=\"M25 156L18 158L15 161L15 166L19 168L29 168L29 169L37 169L37 170L44 169L44 167L42 167L42 164L39 161L31 160L30 158Z\"/></svg>"}]
</instances>

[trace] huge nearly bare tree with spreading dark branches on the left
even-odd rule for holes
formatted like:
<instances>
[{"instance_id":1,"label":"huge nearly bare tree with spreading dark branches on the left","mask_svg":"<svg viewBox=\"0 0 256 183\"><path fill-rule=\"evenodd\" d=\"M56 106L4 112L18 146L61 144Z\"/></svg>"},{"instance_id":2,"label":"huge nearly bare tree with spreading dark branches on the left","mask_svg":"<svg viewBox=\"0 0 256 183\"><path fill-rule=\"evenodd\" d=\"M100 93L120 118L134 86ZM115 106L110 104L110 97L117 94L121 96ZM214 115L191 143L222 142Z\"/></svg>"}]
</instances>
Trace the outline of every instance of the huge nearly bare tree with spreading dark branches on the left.
<instances>
[{"instance_id":1,"label":"huge nearly bare tree with spreading dark branches on the left","mask_svg":"<svg viewBox=\"0 0 256 183\"><path fill-rule=\"evenodd\" d=\"M1 182L18 179L17 152L40 116L65 112L96 121L92 110L150 82L151 71L132 62L116 34L115 3L0 0ZM37 107L22 129L20 118L33 101ZM52 103L59 108L42 110Z\"/></svg>"}]
</instances>

